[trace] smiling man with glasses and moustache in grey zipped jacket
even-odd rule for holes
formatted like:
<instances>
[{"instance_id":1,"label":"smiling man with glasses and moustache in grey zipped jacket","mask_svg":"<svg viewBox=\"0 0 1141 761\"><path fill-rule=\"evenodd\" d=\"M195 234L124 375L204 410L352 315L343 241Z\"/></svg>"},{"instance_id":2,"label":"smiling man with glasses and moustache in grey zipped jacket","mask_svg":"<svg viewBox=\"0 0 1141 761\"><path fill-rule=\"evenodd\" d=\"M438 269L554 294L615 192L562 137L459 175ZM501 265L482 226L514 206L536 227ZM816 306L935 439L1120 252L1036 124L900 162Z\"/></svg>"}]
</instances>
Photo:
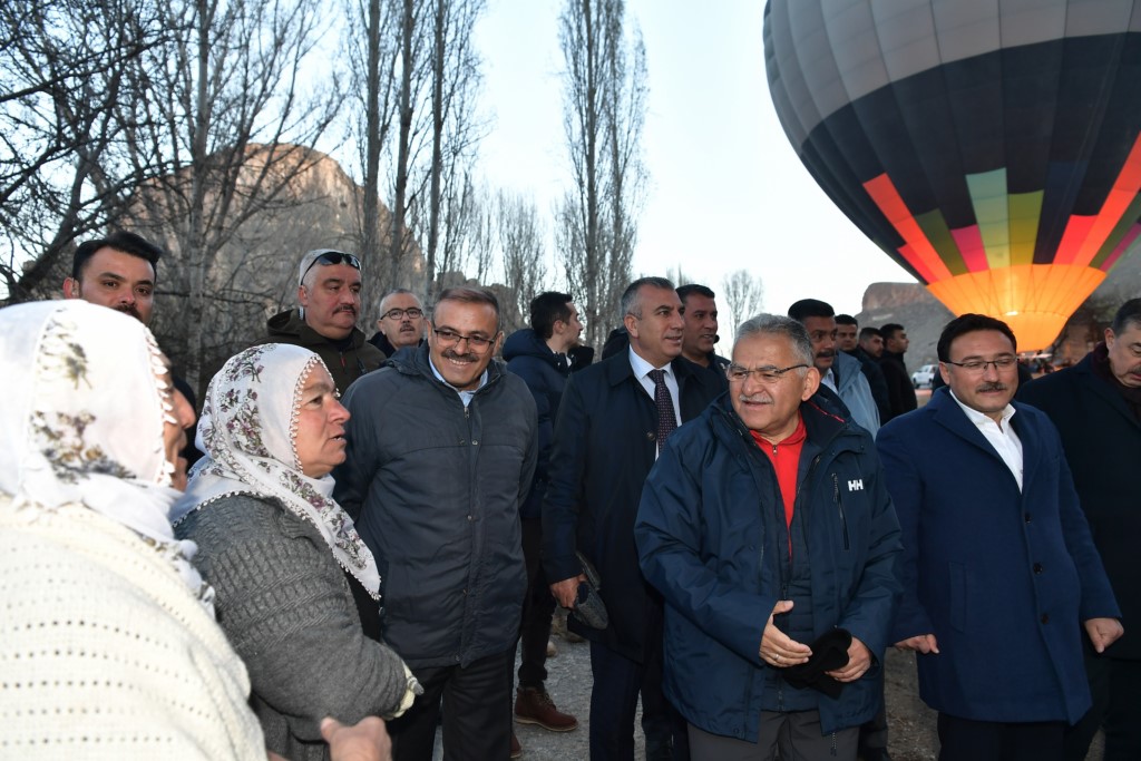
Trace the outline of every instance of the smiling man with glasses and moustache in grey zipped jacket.
<instances>
[{"instance_id":1,"label":"smiling man with glasses and moustache in grey zipped jacket","mask_svg":"<svg viewBox=\"0 0 1141 761\"><path fill-rule=\"evenodd\" d=\"M396 761L507 759L527 588L519 505L535 470L535 402L493 359L495 296L440 293L428 341L349 387L333 495L382 577L385 639L424 688L389 722Z\"/></svg>"}]
</instances>

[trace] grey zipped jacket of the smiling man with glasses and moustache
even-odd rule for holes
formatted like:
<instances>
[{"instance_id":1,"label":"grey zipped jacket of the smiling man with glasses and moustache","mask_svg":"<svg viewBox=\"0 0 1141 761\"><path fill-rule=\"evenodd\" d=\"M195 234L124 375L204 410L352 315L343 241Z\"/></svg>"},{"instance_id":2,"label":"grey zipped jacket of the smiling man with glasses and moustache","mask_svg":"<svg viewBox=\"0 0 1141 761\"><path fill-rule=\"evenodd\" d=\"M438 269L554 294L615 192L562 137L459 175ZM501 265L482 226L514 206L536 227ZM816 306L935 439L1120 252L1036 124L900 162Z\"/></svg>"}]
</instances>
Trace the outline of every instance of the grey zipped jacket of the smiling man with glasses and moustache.
<instances>
[{"instance_id":1,"label":"grey zipped jacket of the smiling man with glasses and moustache","mask_svg":"<svg viewBox=\"0 0 1141 761\"><path fill-rule=\"evenodd\" d=\"M383 578L385 638L413 669L515 646L527 588L519 504L535 470L535 402L493 361L466 408L404 350L345 395L348 459L334 496Z\"/></svg>"}]
</instances>

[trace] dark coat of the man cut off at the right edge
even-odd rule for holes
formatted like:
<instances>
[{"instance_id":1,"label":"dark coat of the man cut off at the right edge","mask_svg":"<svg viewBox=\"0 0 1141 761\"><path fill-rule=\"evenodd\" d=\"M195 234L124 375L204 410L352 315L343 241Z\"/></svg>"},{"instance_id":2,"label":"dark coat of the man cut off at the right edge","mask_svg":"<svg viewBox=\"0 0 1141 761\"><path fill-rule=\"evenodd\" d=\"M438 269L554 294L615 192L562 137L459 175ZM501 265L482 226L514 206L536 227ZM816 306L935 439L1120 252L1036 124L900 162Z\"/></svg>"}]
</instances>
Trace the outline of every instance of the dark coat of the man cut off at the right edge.
<instances>
[{"instance_id":1,"label":"dark coat of the man cut off at the right edge","mask_svg":"<svg viewBox=\"0 0 1141 761\"><path fill-rule=\"evenodd\" d=\"M1038 407L1058 427L1082 511L1122 606L1125 634L1106 653L1141 659L1141 421L1092 358L1019 388L1018 398Z\"/></svg>"}]
</instances>

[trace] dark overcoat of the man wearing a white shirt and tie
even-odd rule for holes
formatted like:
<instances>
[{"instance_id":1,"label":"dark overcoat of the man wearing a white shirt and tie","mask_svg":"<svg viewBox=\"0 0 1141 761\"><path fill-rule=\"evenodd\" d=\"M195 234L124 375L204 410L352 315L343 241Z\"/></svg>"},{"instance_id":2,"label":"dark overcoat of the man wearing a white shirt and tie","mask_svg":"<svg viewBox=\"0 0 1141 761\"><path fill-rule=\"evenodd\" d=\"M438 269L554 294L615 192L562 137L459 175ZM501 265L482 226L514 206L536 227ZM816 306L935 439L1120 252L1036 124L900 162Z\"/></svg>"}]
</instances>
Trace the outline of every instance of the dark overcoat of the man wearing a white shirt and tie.
<instances>
[{"instance_id":1,"label":"dark overcoat of the man wearing a white shirt and tie","mask_svg":"<svg viewBox=\"0 0 1141 761\"><path fill-rule=\"evenodd\" d=\"M712 402L713 374L678 357L682 421ZM641 662L647 598L656 596L638 568L634 513L657 453L654 399L634 378L626 350L573 373L563 394L543 500L543 569L551 582L582 573L578 549L602 577L606 631L570 625L584 637Z\"/></svg>"}]
</instances>

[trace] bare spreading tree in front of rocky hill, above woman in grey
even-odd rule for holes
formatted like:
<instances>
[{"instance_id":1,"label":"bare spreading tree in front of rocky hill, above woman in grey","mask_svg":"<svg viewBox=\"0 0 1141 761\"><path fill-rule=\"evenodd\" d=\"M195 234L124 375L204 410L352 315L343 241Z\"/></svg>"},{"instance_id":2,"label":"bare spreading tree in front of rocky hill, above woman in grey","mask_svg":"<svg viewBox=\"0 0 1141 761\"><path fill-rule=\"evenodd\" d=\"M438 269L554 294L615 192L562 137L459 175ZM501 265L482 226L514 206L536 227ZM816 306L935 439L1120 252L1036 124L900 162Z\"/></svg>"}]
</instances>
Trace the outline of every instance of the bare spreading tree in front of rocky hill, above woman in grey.
<instances>
[{"instance_id":1,"label":"bare spreading tree in front of rocky hill, above woman in grey","mask_svg":"<svg viewBox=\"0 0 1141 761\"><path fill-rule=\"evenodd\" d=\"M138 188L127 218L172 253L164 277L185 301L163 329L187 380L201 388L208 355L234 348L211 322L224 308L218 294L254 253L227 246L254 216L292 203L288 191L319 157L306 146L337 113L339 88L321 82L307 98L299 83L324 32L318 0L172 0L163 8L164 25L178 34L139 58L136 97L118 111L132 126L132 160L164 171ZM233 256L221 258L224 250Z\"/></svg>"}]
</instances>

